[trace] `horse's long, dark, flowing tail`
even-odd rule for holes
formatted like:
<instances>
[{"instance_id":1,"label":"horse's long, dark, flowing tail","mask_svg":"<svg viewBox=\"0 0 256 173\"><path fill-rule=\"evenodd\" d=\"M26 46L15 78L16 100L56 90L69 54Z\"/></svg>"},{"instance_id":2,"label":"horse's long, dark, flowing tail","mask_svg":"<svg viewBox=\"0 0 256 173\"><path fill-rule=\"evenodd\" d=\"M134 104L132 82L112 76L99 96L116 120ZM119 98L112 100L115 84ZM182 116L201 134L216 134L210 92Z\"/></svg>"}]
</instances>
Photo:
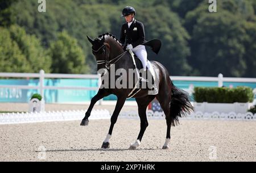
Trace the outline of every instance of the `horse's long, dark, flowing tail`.
<instances>
[{"instance_id":1,"label":"horse's long, dark, flowing tail","mask_svg":"<svg viewBox=\"0 0 256 173\"><path fill-rule=\"evenodd\" d=\"M172 95L170 104L171 125L179 124L179 117L186 116L194 108L189 101L189 95L184 90L177 88L172 83Z\"/></svg>"}]
</instances>

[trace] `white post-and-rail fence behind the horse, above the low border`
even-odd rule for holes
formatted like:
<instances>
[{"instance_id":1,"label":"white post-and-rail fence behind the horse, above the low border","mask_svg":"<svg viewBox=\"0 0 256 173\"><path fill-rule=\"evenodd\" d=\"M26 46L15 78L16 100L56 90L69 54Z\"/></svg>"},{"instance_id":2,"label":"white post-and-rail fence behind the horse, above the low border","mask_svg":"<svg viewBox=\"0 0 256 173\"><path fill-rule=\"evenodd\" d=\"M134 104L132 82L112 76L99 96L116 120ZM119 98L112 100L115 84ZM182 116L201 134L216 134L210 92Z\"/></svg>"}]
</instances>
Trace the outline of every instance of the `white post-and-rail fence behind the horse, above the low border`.
<instances>
[{"instance_id":1,"label":"white post-and-rail fence behind the horse, above the low border","mask_svg":"<svg viewBox=\"0 0 256 173\"><path fill-rule=\"evenodd\" d=\"M0 88L19 88L19 89L38 89L41 95L44 95L44 90L98 90L101 85L100 75L97 74L47 74L44 70L40 70L39 73L0 73L0 77L12 77L12 78L39 78L39 86L25 86L25 85L0 85ZM58 87L58 86L44 86L45 78L70 78L70 79L98 79L97 87ZM218 74L218 77L183 77L183 76L171 76L172 81L203 81L203 82L218 82L218 87L223 86L223 82L251 82L256 83L256 78L225 78L222 74ZM193 91L193 86L189 86L185 89L189 94ZM102 99L100 100L100 104Z\"/></svg>"}]
</instances>

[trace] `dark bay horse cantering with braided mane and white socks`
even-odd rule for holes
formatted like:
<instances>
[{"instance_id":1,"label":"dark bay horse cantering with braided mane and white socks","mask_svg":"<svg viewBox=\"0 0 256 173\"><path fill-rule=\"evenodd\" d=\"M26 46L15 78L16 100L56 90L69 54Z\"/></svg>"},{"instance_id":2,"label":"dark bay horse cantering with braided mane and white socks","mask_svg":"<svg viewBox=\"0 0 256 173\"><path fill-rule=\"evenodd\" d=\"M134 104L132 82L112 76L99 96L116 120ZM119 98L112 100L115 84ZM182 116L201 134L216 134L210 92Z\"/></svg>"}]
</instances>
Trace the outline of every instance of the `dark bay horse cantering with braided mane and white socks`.
<instances>
[{"instance_id":1,"label":"dark bay horse cantering with braided mane and white socks","mask_svg":"<svg viewBox=\"0 0 256 173\"><path fill-rule=\"evenodd\" d=\"M130 56L129 52L125 52L123 50L122 45L119 43L114 36L110 34L103 34L98 36L96 39L88 40L92 44L92 51L97 61L97 69L106 69L109 71L110 64L115 65L115 69L134 69L133 59ZM175 126L179 123L178 117L185 116L186 113L190 113L193 111L193 107L189 102L189 96L183 90L175 87L172 83L170 76L168 74L167 69L156 61L151 61L151 64L154 68L158 69L159 74L159 92L156 95L149 95L147 90L138 91L133 98L135 98L138 104L138 114L141 119L141 130L139 132L137 140L130 146L130 149L136 149L141 143L142 136L144 131L148 126L146 109L148 104L156 98L160 106L162 107L164 114L166 115L166 124L167 124L167 133L166 133L166 142L163 145L163 149L168 149L168 144L171 139L171 125ZM109 71L111 73L111 71ZM115 77L117 79L118 77ZM128 77L129 78L129 77ZM135 79L133 81L135 83ZM110 85L110 84L109 84ZM115 109L113 115L111 117L111 124L109 128L109 133L102 144L102 148L106 149L110 146L110 137L112 136L112 131L114 124L117 121L117 117L119 112L121 111L125 100L128 98L129 93L133 90L133 88L104 88L100 87L97 94L92 98L90 102L90 106L85 113L84 119L82 119L80 125L88 125L89 116L92 111L94 104L108 96L110 94L114 94L117 96L117 104L115 105Z\"/></svg>"}]
</instances>

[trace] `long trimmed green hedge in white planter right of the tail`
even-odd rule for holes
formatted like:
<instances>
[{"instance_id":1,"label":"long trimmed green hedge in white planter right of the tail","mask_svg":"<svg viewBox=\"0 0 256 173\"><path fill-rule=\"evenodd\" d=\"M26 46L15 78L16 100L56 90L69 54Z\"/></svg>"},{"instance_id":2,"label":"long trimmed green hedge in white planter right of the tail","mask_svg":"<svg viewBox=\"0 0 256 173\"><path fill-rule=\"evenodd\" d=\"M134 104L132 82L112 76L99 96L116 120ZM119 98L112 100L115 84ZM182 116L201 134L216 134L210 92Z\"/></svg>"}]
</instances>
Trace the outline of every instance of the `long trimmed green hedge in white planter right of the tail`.
<instances>
[{"instance_id":1,"label":"long trimmed green hedge in white planter right of the tail","mask_svg":"<svg viewBox=\"0 0 256 173\"><path fill-rule=\"evenodd\" d=\"M247 103L253 102L253 89L250 87L195 87L193 93L196 102L208 103Z\"/></svg>"}]
</instances>

